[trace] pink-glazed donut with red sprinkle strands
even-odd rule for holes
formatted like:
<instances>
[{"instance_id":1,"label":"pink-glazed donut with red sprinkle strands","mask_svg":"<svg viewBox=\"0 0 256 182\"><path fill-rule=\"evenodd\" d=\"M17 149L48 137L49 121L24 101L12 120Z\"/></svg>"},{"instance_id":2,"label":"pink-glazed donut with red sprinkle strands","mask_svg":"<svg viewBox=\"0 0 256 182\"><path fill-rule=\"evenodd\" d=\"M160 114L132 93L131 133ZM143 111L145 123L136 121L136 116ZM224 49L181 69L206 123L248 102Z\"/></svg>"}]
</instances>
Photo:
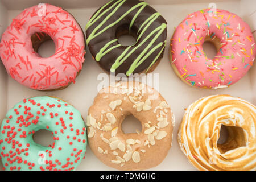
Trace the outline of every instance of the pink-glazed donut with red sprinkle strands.
<instances>
[{"instance_id":1,"label":"pink-glazed donut with red sprinkle strands","mask_svg":"<svg viewBox=\"0 0 256 182\"><path fill-rule=\"evenodd\" d=\"M63 89L75 83L82 69L84 33L67 11L43 5L25 9L13 19L2 34L0 57L7 73L20 84L35 90ZM38 48L51 39L55 53L43 58Z\"/></svg>"}]
</instances>

